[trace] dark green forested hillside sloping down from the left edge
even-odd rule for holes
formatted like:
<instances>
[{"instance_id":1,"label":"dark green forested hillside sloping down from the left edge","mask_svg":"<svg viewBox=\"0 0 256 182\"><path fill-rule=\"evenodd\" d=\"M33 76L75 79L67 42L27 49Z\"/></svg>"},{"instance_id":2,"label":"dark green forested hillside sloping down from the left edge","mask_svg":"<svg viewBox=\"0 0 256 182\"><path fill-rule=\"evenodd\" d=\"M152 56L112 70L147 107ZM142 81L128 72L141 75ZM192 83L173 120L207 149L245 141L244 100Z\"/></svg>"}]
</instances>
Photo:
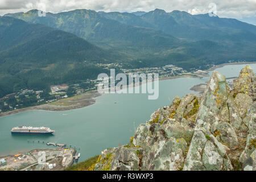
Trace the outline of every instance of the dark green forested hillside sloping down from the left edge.
<instances>
[{"instance_id":1,"label":"dark green forested hillside sloping down from the left edge","mask_svg":"<svg viewBox=\"0 0 256 182\"><path fill-rule=\"evenodd\" d=\"M95 78L112 55L68 32L0 17L0 97ZM86 63L84 62L86 61Z\"/></svg>"}]
</instances>

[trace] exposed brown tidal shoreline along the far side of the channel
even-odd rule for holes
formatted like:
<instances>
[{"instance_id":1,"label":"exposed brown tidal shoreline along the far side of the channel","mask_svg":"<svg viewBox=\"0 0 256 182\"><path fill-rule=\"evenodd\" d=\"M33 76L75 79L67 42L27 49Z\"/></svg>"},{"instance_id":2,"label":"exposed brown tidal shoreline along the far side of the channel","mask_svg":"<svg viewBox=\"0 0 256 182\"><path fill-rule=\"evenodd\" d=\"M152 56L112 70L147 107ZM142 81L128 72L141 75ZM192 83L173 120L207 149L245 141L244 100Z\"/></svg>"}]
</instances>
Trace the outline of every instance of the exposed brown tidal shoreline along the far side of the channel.
<instances>
[{"instance_id":1,"label":"exposed brown tidal shoreline along the far side of the channel","mask_svg":"<svg viewBox=\"0 0 256 182\"><path fill-rule=\"evenodd\" d=\"M215 65L212 68L209 68L207 70L203 70L205 72L209 72L209 71L213 71L214 69L217 68L222 68L225 65L240 65L240 64L255 64L256 61L252 61L252 62L239 62L239 63L224 63L224 64L219 64L219 65ZM159 81L162 80L172 80L172 79L176 79L176 78L200 78L200 77L204 77L202 75L178 75L178 76L171 76L171 77L164 77L164 78L159 78ZM140 82L139 85L141 85L142 83ZM139 86L139 85L134 85L134 86ZM129 85L125 85L125 87L127 87ZM195 85L196 86L196 85ZM192 89L192 88L191 88ZM195 91L195 90L194 90ZM200 92L200 91L195 91L195 92ZM80 97L80 96L88 96L86 98L82 98L81 100L75 100L77 102L80 102L77 105L70 105L70 106L60 106L60 105L55 105L58 102L62 102L65 100L72 100L75 97ZM98 93L97 90L92 90L77 96L73 96L73 97L69 97L69 98L65 98L65 99L61 99L59 101L56 102L52 102L51 104L43 104L43 105L38 105L38 106L31 106L31 107L25 107L22 109L17 109L17 110L12 110L12 111L7 111L5 113L1 113L0 114L0 118L1 117L6 117L8 115L13 115L13 114L18 114L18 113L23 113L26 111L31 111L31 110L42 110L42 111L67 111L67 110L73 110L73 109L80 109L86 106L90 106L96 103L96 100L94 100L94 98L98 97L98 96L102 96L102 94ZM82 104L81 104L82 102Z\"/></svg>"}]
</instances>

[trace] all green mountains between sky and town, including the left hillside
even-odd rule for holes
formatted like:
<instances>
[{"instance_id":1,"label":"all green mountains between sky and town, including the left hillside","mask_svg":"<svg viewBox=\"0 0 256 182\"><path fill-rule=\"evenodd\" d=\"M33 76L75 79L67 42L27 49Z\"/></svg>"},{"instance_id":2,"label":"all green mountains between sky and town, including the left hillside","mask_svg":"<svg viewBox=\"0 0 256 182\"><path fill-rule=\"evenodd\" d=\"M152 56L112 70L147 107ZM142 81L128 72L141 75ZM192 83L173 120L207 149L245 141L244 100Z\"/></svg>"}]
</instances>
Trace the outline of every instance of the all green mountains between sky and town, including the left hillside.
<instances>
[{"instance_id":1,"label":"all green mountains between sky and town, including the left hillside","mask_svg":"<svg viewBox=\"0 0 256 182\"><path fill-rule=\"evenodd\" d=\"M0 97L20 88L96 78L97 63L122 68L207 69L255 61L256 26L235 19L156 9L148 13L38 10L0 17Z\"/></svg>"}]
</instances>

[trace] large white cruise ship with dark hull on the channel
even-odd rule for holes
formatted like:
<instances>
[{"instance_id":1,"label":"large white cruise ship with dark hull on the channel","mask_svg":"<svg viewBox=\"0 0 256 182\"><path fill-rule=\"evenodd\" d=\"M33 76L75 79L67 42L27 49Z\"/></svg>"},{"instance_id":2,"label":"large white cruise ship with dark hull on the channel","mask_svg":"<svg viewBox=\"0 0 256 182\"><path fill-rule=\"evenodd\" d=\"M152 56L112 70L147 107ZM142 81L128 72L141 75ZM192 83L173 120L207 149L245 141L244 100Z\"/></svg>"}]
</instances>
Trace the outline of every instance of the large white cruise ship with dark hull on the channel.
<instances>
[{"instance_id":1,"label":"large white cruise ship with dark hull on the channel","mask_svg":"<svg viewBox=\"0 0 256 182\"><path fill-rule=\"evenodd\" d=\"M32 127L32 126L19 126L11 129L12 134L52 134L54 130L48 127Z\"/></svg>"}]
</instances>

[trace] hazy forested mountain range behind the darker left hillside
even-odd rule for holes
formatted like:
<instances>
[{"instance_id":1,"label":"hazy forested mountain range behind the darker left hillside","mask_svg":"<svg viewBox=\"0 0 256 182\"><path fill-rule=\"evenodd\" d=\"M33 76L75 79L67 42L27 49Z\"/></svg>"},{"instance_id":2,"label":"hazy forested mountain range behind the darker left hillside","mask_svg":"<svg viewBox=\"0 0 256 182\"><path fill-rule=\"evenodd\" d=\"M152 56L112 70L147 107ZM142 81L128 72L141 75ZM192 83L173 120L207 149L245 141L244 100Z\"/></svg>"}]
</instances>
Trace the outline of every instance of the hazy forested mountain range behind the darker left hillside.
<instances>
[{"instance_id":1,"label":"hazy forested mountain range behind the darker left hillside","mask_svg":"<svg viewBox=\"0 0 256 182\"><path fill-rule=\"evenodd\" d=\"M250 61L256 56L255 26L185 11L156 9L135 15L82 9L39 17L38 10L31 10L5 16L71 32L123 55L135 67L175 64L185 69L203 68L228 60Z\"/></svg>"}]
</instances>

